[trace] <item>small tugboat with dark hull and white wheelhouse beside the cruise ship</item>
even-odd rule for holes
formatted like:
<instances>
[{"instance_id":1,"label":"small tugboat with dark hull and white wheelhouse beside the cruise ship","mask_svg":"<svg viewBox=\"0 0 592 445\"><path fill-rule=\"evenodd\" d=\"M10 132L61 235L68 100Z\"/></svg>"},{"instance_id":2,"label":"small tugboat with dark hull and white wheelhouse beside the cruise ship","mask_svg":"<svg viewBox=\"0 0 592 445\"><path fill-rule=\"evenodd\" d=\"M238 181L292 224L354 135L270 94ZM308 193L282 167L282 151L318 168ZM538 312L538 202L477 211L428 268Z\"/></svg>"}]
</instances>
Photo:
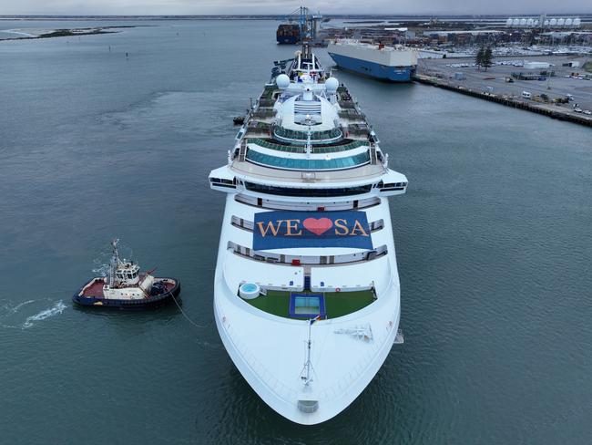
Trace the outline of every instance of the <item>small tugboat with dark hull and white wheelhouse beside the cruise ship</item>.
<instances>
[{"instance_id":1,"label":"small tugboat with dark hull and white wheelhouse beside the cruise ship","mask_svg":"<svg viewBox=\"0 0 592 445\"><path fill-rule=\"evenodd\" d=\"M117 243L111 242L113 255L107 276L91 279L72 297L77 305L116 307L118 309L147 309L167 304L181 290L176 278L155 278L140 273L139 265L133 261L119 259Z\"/></svg>"}]
</instances>

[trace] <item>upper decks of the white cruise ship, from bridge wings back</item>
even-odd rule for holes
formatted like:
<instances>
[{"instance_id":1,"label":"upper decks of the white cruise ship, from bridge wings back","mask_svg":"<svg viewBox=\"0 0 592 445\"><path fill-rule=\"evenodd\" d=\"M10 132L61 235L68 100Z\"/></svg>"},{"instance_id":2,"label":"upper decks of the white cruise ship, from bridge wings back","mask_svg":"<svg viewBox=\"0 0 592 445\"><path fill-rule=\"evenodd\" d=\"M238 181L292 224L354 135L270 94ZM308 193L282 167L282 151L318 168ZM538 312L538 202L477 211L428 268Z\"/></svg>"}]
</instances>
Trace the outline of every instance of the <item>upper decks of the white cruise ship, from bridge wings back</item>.
<instances>
[{"instance_id":1,"label":"upper decks of the white cruise ship, from bridge wings back","mask_svg":"<svg viewBox=\"0 0 592 445\"><path fill-rule=\"evenodd\" d=\"M297 54L286 73L277 66L240 128L228 165L210 174L212 187L337 196L345 188L344 195L374 187L385 194L406 186L404 175L388 169L388 155L357 102L314 55Z\"/></svg>"}]
</instances>

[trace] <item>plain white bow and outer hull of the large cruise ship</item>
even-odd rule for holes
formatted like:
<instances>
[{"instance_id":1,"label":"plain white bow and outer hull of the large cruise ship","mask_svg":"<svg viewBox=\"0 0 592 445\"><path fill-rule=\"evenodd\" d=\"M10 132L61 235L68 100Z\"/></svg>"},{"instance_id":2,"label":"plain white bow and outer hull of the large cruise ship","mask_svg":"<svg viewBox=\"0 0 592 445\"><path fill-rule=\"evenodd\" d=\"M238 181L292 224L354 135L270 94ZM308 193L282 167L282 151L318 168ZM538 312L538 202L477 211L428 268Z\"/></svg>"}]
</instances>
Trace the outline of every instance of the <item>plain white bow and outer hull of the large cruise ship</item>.
<instances>
[{"instance_id":1,"label":"plain white bow and outer hull of the large cruise ship","mask_svg":"<svg viewBox=\"0 0 592 445\"><path fill-rule=\"evenodd\" d=\"M258 396L286 419L301 425L315 425L339 415L358 398L383 366L397 335L401 306L400 285L394 250L389 204L384 199L371 212L371 219L383 218L389 254L388 276L384 276L381 297L360 313L320 321L313 326L312 362L315 381L313 398L318 409L311 413L299 409L299 400L306 397L306 389L299 389L302 344L306 327L301 320L276 316L262 316L230 289L228 276L234 269L225 266L233 255L228 245L231 216L241 215L244 209L230 195L227 198L219 253L214 279L214 317L219 336L232 362ZM370 211L369 211L370 212ZM242 216L242 215L241 215ZM249 218L247 216L247 218ZM347 274L347 272L344 272ZM335 335L340 328L373 326L370 343ZM320 351L320 345L331 344ZM317 346L319 345L319 346ZM344 353L347 351L347 354Z\"/></svg>"}]
</instances>

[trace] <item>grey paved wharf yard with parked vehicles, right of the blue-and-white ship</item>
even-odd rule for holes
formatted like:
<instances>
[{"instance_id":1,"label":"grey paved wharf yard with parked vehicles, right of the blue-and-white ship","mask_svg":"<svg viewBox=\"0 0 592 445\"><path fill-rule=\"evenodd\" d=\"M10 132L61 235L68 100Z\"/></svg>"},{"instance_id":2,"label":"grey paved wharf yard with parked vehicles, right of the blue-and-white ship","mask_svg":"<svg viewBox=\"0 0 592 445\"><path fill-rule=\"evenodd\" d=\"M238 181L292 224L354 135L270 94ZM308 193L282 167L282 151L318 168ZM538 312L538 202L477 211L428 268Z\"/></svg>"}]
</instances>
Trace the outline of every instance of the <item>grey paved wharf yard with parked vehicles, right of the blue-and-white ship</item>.
<instances>
[{"instance_id":1,"label":"grey paved wharf yard with parked vehicles, right of the blue-and-white ship","mask_svg":"<svg viewBox=\"0 0 592 445\"><path fill-rule=\"evenodd\" d=\"M520 64L524 60L529 62L549 62L554 66L549 68L526 69L509 65L509 63ZM580 67L563 67L571 61L578 61ZM549 100L554 98L566 98L571 94L573 101L565 105L545 104L553 109L563 109L573 112L574 105L577 104L580 109L589 109L592 111L592 72L584 69L584 64L592 62L592 57L575 56L537 56L537 57L496 57L494 62L508 62L508 65L495 65L493 67L478 70L473 67L474 58L444 58L444 59L422 59L420 60L418 72L420 75L437 78L440 82L445 82L451 86L469 88L483 93L495 94L496 96L505 96L515 100L524 100L538 105L539 97L545 94ZM469 65L469 67L461 67ZM541 71L555 71L555 76L540 75ZM513 78L513 82L507 82L506 78L512 78L512 73L525 73L537 75L545 80L519 80ZM455 79L455 73L463 73L464 79ZM577 74L578 76L572 76ZM590 78L587 79L585 75ZM523 91L529 92L532 98L523 98ZM543 105L540 103L540 105ZM581 113L580 113L581 114Z\"/></svg>"}]
</instances>

